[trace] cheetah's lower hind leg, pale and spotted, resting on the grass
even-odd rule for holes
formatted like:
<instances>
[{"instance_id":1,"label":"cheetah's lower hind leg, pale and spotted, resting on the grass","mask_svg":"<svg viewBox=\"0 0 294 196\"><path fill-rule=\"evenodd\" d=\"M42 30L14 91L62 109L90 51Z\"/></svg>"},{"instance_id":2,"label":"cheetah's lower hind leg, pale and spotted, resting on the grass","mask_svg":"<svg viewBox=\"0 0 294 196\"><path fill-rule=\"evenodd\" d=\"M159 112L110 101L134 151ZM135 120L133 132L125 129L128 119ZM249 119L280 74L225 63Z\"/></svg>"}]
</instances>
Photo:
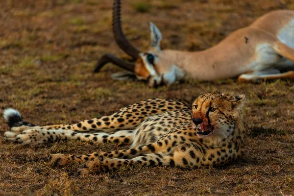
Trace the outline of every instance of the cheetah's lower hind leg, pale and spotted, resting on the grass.
<instances>
[{"instance_id":1,"label":"cheetah's lower hind leg, pale and spotted, resting on the grass","mask_svg":"<svg viewBox=\"0 0 294 196\"><path fill-rule=\"evenodd\" d=\"M14 136L11 132L5 132L6 140L17 141L22 145L37 145L50 143L56 140L81 140L95 144L124 143L129 144L133 140L133 130L120 130L113 133L76 133L72 130L44 130L40 128L28 129Z\"/></svg>"}]
</instances>

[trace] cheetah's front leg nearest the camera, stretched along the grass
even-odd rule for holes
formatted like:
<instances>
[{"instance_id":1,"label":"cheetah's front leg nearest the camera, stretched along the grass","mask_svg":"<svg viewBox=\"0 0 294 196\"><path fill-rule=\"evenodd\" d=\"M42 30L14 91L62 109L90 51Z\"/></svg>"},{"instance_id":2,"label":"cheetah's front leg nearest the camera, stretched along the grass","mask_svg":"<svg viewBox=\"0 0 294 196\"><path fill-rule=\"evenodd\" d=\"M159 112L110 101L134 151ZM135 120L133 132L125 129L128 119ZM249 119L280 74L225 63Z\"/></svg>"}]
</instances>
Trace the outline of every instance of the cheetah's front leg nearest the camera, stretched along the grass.
<instances>
[{"instance_id":1,"label":"cheetah's front leg nearest the camera, stretched along the grass","mask_svg":"<svg viewBox=\"0 0 294 196\"><path fill-rule=\"evenodd\" d=\"M205 161L204 161L205 160ZM132 159L102 158L87 161L81 169L80 174L107 172L125 166L171 166L181 168L199 168L212 164L212 158L206 158L203 153L196 149L191 143L176 146L171 152L149 153Z\"/></svg>"}]
</instances>

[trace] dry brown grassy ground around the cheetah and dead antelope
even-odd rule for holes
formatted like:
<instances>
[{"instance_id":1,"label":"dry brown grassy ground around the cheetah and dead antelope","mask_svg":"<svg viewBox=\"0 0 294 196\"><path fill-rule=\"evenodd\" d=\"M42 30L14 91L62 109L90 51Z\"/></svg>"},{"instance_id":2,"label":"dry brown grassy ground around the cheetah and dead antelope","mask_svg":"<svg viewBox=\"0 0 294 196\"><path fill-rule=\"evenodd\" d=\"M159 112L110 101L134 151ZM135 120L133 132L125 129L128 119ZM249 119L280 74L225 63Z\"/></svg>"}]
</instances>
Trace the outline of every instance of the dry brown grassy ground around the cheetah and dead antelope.
<instances>
[{"instance_id":1,"label":"dry brown grassy ground around the cheetah and dead antelope","mask_svg":"<svg viewBox=\"0 0 294 196\"><path fill-rule=\"evenodd\" d=\"M75 123L147 98L192 102L200 92L245 94L249 132L245 156L233 165L197 170L126 168L79 176L79 166L52 168L51 153L85 154L122 148L79 141L19 146L3 140L0 118L0 195L291 195L294 193L294 80L241 84L189 80L170 87L113 81L98 58L126 58L113 40L111 0L0 1L0 113L18 109L39 125ZM123 0L123 29L146 49L149 21L163 34L163 49L199 50L292 0Z\"/></svg>"}]
</instances>

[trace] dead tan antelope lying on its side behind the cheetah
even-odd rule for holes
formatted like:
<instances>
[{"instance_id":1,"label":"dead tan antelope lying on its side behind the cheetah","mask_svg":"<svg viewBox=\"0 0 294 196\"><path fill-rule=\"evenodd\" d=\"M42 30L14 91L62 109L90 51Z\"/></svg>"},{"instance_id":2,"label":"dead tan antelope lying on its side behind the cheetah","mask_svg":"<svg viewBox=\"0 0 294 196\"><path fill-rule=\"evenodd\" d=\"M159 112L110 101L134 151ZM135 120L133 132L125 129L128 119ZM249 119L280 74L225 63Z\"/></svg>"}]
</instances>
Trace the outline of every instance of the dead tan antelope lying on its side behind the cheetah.
<instances>
[{"instance_id":1,"label":"dead tan antelope lying on its side behind the cheetah","mask_svg":"<svg viewBox=\"0 0 294 196\"><path fill-rule=\"evenodd\" d=\"M115 0L114 25L120 25L120 21L117 22L120 20L119 9L120 0ZM116 32L114 30L115 37L125 39L122 31L121 34ZM151 87L169 85L187 77L211 81L239 76L239 81L251 82L294 77L294 11L291 10L272 11L202 51L161 50L159 29L150 23L150 32L147 52L136 49L128 52L122 44L120 47L137 59L128 70L138 79L147 80ZM132 46L127 44L130 49ZM95 71L101 66L99 61ZM115 76L120 78L122 75Z\"/></svg>"}]
</instances>

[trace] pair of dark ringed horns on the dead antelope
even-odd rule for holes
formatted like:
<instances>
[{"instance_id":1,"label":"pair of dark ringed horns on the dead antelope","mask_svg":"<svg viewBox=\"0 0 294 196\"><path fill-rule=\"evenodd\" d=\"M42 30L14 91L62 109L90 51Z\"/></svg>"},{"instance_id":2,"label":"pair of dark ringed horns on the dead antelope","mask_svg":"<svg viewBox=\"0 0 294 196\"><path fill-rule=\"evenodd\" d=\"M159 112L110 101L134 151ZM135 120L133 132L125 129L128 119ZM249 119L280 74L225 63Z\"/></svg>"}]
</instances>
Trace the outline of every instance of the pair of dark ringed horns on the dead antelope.
<instances>
[{"instance_id":1,"label":"pair of dark ringed horns on the dead antelope","mask_svg":"<svg viewBox=\"0 0 294 196\"><path fill-rule=\"evenodd\" d=\"M122 23L121 23L121 0L114 0L113 7L112 7L112 31L114 34L114 39L117 45L123 49L125 53L130 55L134 60L137 60L140 51L133 47L128 40L126 39L125 35L123 34ZM94 73L99 72L100 69L106 63L113 63L118 65L119 67L128 70L130 72L134 72L134 63L126 62L113 54L106 53L104 54L98 61L95 66Z\"/></svg>"}]
</instances>

